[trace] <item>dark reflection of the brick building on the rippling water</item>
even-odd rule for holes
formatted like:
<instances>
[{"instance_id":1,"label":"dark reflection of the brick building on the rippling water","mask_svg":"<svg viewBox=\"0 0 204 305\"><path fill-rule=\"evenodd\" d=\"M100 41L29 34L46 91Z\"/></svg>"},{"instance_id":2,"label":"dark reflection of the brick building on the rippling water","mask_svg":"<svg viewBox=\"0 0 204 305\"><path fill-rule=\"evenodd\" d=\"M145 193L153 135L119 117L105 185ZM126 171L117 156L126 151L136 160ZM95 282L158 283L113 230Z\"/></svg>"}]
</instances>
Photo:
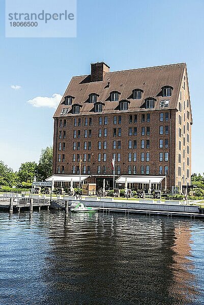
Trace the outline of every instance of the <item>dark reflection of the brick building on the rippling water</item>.
<instances>
[{"instance_id":1,"label":"dark reflection of the brick building on the rippling water","mask_svg":"<svg viewBox=\"0 0 204 305\"><path fill-rule=\"evenodd\" d=\"M50 215L46 304L192 304L191 221Z\"/></svg>"}]
</instances>

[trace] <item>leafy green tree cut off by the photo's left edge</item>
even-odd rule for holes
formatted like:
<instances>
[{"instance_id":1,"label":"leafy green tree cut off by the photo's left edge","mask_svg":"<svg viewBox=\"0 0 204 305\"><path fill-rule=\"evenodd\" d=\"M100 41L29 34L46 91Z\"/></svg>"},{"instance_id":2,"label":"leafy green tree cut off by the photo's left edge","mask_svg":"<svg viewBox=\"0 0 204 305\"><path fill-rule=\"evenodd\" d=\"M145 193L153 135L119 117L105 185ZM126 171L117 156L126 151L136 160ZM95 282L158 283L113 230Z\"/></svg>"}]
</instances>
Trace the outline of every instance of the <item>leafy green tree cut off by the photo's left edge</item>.
<instances>
[{"instance_id":1,"label":"leafy green tree cut off by the photo's left edge","mask_svg":"<svg viewBox=\"0 0 204 305\"><path fill-rule=\"evenodd\" d=\"M0 186L12 187L16 185L17 175L3 161L0 161Z\"/></svg>"}]
</instances>

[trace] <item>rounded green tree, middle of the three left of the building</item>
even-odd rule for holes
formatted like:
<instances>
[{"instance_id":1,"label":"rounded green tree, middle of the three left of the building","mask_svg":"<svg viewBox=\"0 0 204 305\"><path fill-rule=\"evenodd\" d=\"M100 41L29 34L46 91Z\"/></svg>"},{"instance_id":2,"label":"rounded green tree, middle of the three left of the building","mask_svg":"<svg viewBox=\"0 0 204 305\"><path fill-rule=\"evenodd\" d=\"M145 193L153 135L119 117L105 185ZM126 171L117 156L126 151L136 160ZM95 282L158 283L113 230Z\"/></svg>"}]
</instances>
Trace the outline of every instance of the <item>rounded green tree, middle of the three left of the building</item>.
<instances>
[{"instance_id":1,"label":"rounded green tree, middle of the three left of the building","mask_svg":"<svg viewBox=\"0 0 204 305\"><path fill-rule=\"evenodd\" d=\"M37 167L36 162L22 163L18 171L19 181L32 183L37 172Z\"/></svg>"}]
</instances>

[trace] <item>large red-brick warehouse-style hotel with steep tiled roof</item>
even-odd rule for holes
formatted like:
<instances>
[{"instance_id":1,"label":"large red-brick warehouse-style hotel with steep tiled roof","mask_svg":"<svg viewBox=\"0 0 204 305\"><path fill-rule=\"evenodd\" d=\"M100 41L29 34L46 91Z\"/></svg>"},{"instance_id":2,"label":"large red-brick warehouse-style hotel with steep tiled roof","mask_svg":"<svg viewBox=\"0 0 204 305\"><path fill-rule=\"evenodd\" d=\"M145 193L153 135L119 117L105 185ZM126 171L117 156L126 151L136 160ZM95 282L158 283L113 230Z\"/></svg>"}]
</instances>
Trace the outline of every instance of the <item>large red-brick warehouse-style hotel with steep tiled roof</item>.
<instances>
[{"instance_id":1,"label":"large red-brick warehouse-style hotel with steep tiled roof","mask_svg":"<svg viewBox=\"0 0 204 305\"><path fill-rule=\"evenodd\" d=\"M71 79L54 113L53 174L90 175L111 188L115 176L165 175L171 190L190 184L192 114L186 64Z\"/></svg>"}]
</instances>

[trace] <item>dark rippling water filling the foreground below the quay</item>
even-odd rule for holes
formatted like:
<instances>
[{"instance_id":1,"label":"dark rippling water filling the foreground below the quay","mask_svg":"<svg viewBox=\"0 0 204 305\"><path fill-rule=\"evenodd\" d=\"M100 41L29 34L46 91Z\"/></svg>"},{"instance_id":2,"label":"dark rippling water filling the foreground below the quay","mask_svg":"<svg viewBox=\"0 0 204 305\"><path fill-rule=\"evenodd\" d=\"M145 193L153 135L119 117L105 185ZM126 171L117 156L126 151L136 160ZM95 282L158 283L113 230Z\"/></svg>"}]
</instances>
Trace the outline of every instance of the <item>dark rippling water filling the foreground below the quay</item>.
<instances>
[{"instance_id":1,"label":"dark rippling water filling the foreground below the quay","mask_svg":"<svg viewBox=\"0 0 204 305\"><path fill-rule=\"evenodd\" d=\"M204 222L0 214L0 304L204 304Z\"/></svg>"}]
</instances>

